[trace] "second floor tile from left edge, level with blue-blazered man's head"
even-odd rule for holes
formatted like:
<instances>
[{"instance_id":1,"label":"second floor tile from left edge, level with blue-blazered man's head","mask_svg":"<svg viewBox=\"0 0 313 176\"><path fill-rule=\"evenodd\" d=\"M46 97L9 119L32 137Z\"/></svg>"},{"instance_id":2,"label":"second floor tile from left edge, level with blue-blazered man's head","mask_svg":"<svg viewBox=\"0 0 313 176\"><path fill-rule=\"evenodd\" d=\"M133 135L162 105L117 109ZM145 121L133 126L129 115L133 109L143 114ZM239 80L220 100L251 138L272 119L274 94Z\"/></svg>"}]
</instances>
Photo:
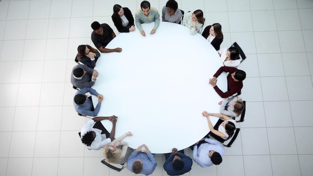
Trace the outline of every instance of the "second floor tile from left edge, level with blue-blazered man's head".
<instances>
[{"instance_id":1,"label":"second floor tile from left edge, level with blue-blazered man's head","mask_svg":"<svg viewBox=\"0 0 313 176\"><path fill-rule=\"evenodd\" d=\"M16 106L38 106L41 83L20 83L18 86Z\"/></svg>"}]
</instances>

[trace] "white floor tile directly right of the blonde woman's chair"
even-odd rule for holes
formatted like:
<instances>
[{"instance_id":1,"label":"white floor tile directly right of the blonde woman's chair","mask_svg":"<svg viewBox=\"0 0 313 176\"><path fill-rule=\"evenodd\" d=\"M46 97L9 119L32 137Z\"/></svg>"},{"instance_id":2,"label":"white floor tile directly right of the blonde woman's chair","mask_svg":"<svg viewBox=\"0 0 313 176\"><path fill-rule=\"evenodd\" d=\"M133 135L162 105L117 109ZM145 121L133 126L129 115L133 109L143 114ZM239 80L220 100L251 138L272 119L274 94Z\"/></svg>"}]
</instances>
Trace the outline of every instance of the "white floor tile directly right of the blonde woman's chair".
<instances>
[{"instance_id":1,"label":"white floor tile directly right of the blonde woman's chair","mask_svg":"<svg viewBox=\"0 0 313 176\"><path fill-rule=\"evenodd\" d=\"M240 127L266 127L263 102L246 102L244 121Z\"/></svg>"}]
</instances>

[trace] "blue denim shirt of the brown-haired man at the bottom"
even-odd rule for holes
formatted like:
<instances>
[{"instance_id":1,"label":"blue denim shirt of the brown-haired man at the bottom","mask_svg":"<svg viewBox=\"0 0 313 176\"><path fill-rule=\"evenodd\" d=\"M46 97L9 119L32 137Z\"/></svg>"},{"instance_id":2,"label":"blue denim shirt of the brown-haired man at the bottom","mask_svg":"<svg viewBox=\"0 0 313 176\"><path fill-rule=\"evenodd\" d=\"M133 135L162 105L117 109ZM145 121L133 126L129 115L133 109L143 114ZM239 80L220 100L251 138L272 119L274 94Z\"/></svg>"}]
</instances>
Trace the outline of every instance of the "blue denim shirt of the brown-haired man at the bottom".
<instances>
[{"instance_id":1,"label":"blue denim shirt of the brown-haired man at the bottom","mask_svg":"<svg viewBox=\"0 0 313 176\"><path fill-rule=\"evenodd\" d=\"M149 175L154 171L157 163L151 151L149 151L148 153L145 153L145 152L141 152L141 151L138 152L134 150L130 154L130 156L127 159L127 169L130 170L131 172L132 172L132 169L131 169L132 164L137 159L140 159L143 164L143 168L140 172L141 174Z\"/></svg>"}]
</instances>

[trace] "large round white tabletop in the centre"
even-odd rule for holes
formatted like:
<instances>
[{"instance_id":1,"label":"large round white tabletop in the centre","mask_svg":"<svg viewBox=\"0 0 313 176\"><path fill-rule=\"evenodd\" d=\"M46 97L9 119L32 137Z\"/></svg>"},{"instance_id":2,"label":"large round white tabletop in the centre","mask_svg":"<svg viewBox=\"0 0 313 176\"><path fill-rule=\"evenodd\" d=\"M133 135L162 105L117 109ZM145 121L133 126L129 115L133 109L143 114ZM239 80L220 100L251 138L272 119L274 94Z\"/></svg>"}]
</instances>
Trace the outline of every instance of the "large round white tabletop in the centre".
<instances>
[{"instance_id":1,"label":"large round white tabletop in the centre","mask_svg":"<svg viewBox=\"0 0 313 176\"><path fill-rule=\"evenodd\" d=\"M219 111L222 98L208 80L222 63L200 34L190 35L187 27L170 22L160 22L149 34L153 25L142 24L145 37L136 29L106 46L122 52L101 53L92 88L104 96L98 116L118 116L115 137L131 131L133 136L124 139L129 147L145 143L152 153L166 153L188 147L209 131L201 112ZM226 90L225 74L217 85ZM111 122L102 123L111 130Z\"/></svg>"}]
</instances>

